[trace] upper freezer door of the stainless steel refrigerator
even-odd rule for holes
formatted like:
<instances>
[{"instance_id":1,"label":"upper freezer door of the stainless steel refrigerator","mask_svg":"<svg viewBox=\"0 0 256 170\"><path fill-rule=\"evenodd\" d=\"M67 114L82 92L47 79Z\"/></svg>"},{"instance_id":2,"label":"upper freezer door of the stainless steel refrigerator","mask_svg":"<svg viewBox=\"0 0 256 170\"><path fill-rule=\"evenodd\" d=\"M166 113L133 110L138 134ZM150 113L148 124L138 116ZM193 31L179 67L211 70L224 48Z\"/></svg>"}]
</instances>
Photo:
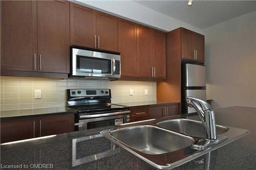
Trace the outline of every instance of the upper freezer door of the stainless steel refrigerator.
<instances>
[{"instance_id":1,"label":"upper freezer door of the stainless steel refrigerator","mask_svg":"<svg viewBox=\"0 0 256 170\"><path fill-rule=\"evenodd\" d=\"M206 69L204 65L185 65L185 86L206 87Z\"/></svg>"}]
</instances>

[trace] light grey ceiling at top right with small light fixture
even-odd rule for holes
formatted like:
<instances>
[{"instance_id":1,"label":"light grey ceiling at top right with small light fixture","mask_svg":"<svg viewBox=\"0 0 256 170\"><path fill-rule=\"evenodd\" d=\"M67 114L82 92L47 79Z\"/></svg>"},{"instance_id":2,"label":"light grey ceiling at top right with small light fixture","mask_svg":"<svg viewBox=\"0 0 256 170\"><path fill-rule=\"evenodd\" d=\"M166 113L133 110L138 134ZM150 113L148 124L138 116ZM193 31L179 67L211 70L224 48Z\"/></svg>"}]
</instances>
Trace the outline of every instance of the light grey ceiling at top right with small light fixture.
<instances>
[{"instance_id":1,"label":"light grey ceiling at top right with small light fixture","mask_svg":"<svg viewBox=\"0 0 256 170\"><path fill-rule=\"evenodd\" d=\"M204 29L256 10L256 1L134 1L142 6Z\"/></svg>"}]
</instances>

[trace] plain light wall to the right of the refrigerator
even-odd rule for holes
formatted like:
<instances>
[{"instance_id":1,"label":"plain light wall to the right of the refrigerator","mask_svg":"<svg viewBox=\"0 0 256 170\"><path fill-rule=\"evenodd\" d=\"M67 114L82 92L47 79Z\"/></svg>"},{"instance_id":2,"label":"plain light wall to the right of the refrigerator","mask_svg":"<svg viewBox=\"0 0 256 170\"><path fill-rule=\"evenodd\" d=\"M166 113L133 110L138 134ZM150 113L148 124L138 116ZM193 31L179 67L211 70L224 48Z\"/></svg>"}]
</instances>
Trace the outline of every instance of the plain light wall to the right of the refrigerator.
<instances>
[{"instance_id":1,"label":"plain light wall to the right of the refrigerator","mask_svg":"<svg viewBox=\"0 0 256 170\"><path fill-rule=\"evenodd\" d=\"M256 107L256 11L204 32L207 98L214 108Z\"/></svg>"}]
</instances>

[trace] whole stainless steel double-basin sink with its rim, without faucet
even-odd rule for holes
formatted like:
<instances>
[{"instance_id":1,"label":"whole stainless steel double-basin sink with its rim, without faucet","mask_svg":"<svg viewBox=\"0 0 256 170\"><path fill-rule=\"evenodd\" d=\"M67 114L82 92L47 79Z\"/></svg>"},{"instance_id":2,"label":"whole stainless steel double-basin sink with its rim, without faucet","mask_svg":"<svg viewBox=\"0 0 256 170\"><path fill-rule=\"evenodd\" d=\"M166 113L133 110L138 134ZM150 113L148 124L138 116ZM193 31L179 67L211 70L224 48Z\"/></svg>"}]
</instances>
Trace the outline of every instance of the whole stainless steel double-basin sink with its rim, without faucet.
<instances>
[{"instance_id":1,"label":"whole stainless steel double-basin sink with its rim, without faucet","mask_svg":"<svg viewBox=\"0 0 256 170\"><path fill-rule=\"evenodd\" d=\"M204 150L191 147L205 137L204 125L184 118L120 127L101 134L147 163L160 169L171 169L249 133L218 125L216 130L217 135L225 135L227 139Z\"/></svg>"}]
</instances>

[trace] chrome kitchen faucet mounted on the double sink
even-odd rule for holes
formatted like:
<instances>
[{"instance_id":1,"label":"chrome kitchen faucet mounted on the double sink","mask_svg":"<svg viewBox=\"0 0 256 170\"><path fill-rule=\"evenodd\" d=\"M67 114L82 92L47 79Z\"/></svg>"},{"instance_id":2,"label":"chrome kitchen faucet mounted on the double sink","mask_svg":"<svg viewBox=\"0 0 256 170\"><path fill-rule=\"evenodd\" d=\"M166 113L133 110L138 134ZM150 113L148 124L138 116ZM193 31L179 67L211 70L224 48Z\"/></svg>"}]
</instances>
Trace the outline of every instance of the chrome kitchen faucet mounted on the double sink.
<instances>
[{"instance_id":1,"label":"chrome kitchen faucet mounted on the double sink","mask_svg":"<svg viewBox=\"0 0 256 170\"><path fill-rule=\"evenodd\" d=\"M227 138L223 135L217 136L215 113L210 104L193 97L187 97L187 104L189 107L194 107L196 109L206 130L205 139L201 139L197 143L193 144L194 149L205 149L210 145L217 144Z\"/></svg>"}]
</instances>

